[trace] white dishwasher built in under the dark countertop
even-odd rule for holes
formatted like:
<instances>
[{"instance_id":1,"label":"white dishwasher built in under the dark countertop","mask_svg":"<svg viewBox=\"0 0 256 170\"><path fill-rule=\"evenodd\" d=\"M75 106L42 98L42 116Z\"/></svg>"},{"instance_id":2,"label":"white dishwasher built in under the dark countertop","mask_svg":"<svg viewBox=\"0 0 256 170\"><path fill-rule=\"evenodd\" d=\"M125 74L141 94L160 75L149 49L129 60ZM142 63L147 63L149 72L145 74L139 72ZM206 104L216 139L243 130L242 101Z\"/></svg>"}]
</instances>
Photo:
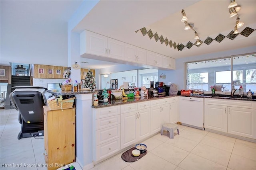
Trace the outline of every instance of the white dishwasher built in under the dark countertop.
<instances>
[{"instance_id":1,"label":"white dishwasher built in under the dark countertop","mask_svg":"<svg viewBox=\"0 0 256 170\"><path fill-rule=\"evenodd\" d=\"M180 122L204 129L204 98L180 97Z\"/></svg>"}]
</instances>

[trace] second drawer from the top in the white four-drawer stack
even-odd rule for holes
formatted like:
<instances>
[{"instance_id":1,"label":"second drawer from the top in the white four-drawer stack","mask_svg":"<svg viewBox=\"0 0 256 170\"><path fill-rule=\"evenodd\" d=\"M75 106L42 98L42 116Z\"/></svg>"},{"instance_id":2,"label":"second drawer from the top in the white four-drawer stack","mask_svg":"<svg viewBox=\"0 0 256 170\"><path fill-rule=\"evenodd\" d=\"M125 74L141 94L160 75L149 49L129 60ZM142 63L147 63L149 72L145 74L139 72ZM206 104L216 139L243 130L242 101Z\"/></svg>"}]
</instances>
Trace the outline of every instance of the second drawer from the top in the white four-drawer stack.
<instances>
[{"instance_id":1,"label":"second drawer from the top in the white four-drawer stack","mask_svg":"<svg viewBox=\"0 0 256 170\"><path fill-rule=\"evenodd\" d=\"M120 115L105 117L102 119L95 120L95 130L110 127L113 125L120 124Z\"/></svg>"}]
</instances>

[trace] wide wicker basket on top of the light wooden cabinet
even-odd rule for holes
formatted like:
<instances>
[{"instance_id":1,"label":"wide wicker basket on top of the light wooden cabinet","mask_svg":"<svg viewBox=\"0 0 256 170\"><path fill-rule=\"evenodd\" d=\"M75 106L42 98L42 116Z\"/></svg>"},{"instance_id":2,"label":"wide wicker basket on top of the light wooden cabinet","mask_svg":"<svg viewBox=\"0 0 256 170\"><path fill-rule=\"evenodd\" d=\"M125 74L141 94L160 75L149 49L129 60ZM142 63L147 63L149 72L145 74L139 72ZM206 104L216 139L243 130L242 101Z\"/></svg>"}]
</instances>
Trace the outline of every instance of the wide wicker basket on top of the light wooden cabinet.
<instances>
[{"instance_id":1,"label":"wide wicker basket on top of the light wooden cabinet","mask_svg":"<svg viewBox=\"0 0 256 170\"><path fill-rule=\"evenodd\" d=\"M65 99L60 102L56 102L56 100L47 100L48 107L50 110L58 110L58 109L70 109L73 108L75 98Z\"/></svg>"}]
</instances>

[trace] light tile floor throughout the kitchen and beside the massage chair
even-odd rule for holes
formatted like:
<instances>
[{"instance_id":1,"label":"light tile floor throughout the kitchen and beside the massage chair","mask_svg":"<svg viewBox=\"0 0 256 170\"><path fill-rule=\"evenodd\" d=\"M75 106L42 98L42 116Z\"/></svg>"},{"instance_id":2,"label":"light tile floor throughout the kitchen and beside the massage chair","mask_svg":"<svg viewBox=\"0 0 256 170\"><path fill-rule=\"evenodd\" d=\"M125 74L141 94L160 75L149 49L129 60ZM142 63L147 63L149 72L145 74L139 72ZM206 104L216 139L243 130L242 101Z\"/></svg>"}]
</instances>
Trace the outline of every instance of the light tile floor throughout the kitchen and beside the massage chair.
<instances>
[{"instance_id":1,"label":"light tile floor throughout the kitchen and beside the massage chair","mask_svg":"<svg viewBox=\"0 0 256 170\"><path fill-rule=\"evenodd\" d=\"M164 131L143 141L148 153L136 162L124 162L119 153L91 170L256 170L256 143L182 125L179 130L174 139ZM46 170L24 167L44 166L44 139L18 140L19 131L18 111L0 109L0 169ZM22 167L4 168L3 164Z\"/></svg>"}]
</instances>

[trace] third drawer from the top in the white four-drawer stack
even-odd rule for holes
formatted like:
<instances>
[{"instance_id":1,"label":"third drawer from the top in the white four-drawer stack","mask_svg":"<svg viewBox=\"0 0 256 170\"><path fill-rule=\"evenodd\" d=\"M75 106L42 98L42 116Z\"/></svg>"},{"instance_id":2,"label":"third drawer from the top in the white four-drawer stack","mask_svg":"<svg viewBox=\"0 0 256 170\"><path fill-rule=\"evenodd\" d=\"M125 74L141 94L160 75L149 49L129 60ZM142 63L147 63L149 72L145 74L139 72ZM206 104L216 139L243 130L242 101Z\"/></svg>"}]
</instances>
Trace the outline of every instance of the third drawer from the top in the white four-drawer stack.
<instances>
[{"instance_id":1,"label":"third drawer from the top in the white four-drawer stack","mask_svg":"<svg viewBox=\"0 0 256 170\"><path fill-rule=\"evenodd\" d=\"M118 137L120 137L120 124L96 131L95 144L101 145Z\"/></svg>"}]
</instances>

